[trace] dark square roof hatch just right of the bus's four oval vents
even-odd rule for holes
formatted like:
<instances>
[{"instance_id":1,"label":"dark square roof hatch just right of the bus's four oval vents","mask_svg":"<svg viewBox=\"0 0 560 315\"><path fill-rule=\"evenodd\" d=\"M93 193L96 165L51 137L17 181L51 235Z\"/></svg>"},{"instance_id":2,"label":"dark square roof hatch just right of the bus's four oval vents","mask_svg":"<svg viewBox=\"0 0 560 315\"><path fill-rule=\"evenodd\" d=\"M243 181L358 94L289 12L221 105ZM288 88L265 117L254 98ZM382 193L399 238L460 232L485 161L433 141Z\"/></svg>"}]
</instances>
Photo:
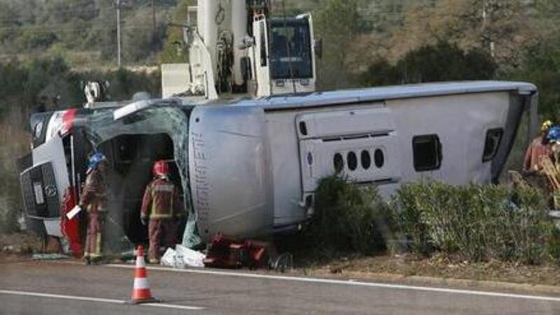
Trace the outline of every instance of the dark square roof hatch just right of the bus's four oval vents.
<instances>
[{"instance_id":1,"label":"dark square roof hatch just right of the bus's four oval vents","mask_svg":"<svg viewBox=\"0 0 560 315\"><path fill-rule=\"evenodd\" d=\"M442 144L437 134L425 134L412 138L414 170L416 172L439 169L442 163Z\"/></svg>"}]
</instances>

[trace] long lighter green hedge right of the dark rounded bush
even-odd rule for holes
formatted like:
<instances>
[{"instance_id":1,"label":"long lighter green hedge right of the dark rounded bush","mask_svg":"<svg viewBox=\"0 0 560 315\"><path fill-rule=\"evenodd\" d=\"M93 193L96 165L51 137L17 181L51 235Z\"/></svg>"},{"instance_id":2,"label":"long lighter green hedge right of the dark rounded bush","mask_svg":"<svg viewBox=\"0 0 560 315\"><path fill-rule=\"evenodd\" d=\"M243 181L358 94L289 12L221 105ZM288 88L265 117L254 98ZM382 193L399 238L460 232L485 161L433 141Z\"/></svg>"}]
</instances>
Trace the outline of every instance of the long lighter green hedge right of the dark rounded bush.
<instances>
[{"instance_id":1,"label":"long lighter green hedge right of the dark rounded bush","mask_svg":"<svg viewBox=\"0 0 560 315\"><path fill-rule=\"evenodd\" d=\"M414 253L437 248L471 261L538 264L549 251L552 223L542 195L528 186L424 181L402 186L392 204Z\"/></svg>"}]
</instances>

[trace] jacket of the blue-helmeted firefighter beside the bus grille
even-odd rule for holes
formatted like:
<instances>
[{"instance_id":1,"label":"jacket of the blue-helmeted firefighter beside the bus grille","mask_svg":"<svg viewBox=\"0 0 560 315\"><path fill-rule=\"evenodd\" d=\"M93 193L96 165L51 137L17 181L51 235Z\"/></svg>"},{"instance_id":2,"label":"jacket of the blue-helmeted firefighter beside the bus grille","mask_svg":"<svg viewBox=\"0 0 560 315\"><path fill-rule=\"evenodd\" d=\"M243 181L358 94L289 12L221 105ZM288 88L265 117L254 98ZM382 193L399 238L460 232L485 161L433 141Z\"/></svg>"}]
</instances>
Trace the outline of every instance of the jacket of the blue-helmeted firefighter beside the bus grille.
<instances>
[{"instance_id":1,"label":"jacket of the blue-helmeted firefighter beside the bus grille","mask_svg":"<svg viewBox=\"0 0 560 315\"><path fill-rule=\"evenodd\" d=\"M104 176L99 169L94 169L90 174L87 174L80 207L85 207L88 213L104 212L107 210L107 188Z\"/></svg>"}]
</instances>

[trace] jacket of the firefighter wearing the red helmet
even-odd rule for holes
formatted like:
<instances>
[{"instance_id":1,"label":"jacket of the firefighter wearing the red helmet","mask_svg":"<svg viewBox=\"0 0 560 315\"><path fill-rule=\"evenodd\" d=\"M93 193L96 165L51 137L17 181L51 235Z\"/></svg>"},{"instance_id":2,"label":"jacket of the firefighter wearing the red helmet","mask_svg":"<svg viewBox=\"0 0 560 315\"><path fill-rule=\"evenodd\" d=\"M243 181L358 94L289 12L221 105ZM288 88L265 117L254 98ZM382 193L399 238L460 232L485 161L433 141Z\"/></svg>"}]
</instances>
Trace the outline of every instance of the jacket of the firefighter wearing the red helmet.
<instances>
[{"instance_id":1,"label":"jacket of the firefighter wearing the red helmet","mask_svg":"<svg viewBox=\"0 0 560 315\"><path fill-rule=\"evenodd\" d=\"M158 178L146 187L142 200L141 218L169 219L182 216L183 207L179 200L179 189L172 181Z\"/></svg>"}]
</instances>

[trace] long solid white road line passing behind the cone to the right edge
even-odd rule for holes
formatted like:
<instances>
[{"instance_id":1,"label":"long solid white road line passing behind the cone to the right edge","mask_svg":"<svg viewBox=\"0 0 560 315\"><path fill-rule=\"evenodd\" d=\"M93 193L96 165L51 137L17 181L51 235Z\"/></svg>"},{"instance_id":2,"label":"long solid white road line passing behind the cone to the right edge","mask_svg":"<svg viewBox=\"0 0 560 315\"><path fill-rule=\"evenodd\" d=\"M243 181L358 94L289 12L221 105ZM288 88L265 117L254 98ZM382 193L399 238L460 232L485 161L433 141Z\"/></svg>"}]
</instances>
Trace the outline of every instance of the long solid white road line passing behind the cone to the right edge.
<instances>
[{"instance_id":1,"label":"long solid white road line passing behind the cone to the right edge","mask_svg":"<svg viewBox=\"0 0 560 315\"><path fill-rule=\"evenodd\" d=\"M130 265L117 265L109 264L106 267L119 267L119 268L134 268ZM478 290L461 290L452 288L437 288L430 286L407 286L404 284L391 284L391 283L376 283L376 282L363 282L356 280L335 280L335 279L321 279L321 278L307 278L302 276L274 276L269 274L247 274L243 272L223 272L216 270L203 270L203 269L172 269L168 267L148 267L148 270L158 270L165 272L188 272L193 274L211 274L217 276L239 276L244 278L255 278L255 279L272 279L272 280L283 280L283 281L300 281L300 282L310 282L310 283L326 283L326 284L341 284L346 286L366 286L373 288L390 288L399 290L419 290L427 292L438 292L438 293L451 293L451 294L465 294L465 295L479 295L488 297L508 297L514 299L524 299L524 300L538 300L547 302L560 302L560 297L552 297L545 295L523 295L523 294L512 294L512 293L498 293L489 291L478 291Z\"/></svg>"}]
</instances>

